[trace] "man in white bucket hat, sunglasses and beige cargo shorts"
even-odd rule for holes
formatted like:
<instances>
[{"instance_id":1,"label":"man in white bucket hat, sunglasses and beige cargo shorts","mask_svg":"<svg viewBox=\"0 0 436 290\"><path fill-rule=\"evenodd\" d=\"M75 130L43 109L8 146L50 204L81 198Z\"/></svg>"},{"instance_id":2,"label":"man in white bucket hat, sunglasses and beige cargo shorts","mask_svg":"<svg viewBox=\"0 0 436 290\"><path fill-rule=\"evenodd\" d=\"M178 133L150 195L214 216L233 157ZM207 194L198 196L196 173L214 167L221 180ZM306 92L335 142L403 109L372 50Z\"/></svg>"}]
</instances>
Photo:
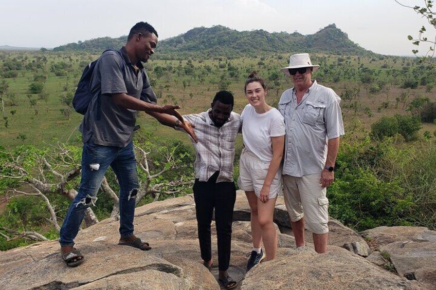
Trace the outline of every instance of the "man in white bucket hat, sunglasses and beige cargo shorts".
<instances>
[{"instance_id":1,"label":"man in white bucket hat, sunglasses and beige cargo shorts","mask_svg":"<svg viewBox=\"0 0 436 290\"><path fill-rule=\"evenodd\" d=\"M304 246L304 228L313 233L317 253L327 252L326 188L334 180L339 139L344 134L340 98L312 80L319 68L307 53L289 57L281 70L294 87L283 92L279 110L286 126L283 196L297 247Z\"/></svg>"}]
</instances>

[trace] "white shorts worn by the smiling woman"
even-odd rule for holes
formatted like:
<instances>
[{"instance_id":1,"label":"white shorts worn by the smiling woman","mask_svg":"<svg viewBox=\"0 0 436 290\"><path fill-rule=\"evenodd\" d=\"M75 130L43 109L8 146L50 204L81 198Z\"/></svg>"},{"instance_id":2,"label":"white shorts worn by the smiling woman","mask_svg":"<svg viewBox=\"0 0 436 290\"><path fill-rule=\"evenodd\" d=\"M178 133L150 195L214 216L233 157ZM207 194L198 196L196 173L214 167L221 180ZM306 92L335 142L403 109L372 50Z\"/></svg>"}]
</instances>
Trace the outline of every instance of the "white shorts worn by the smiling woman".
<instances>
[{"instance_id":1,"label":"white shorts worn by the smiling woman","mask_svg":"<svg viewBox=\"0 0 436 290\"><path fill-rule=\"evenodd\" d=\"M268 168L269 162L264 162L253 152L243 149L239 159L239 188L244 191L254 191L256 196L259 197ZM282 190L282 168L280 166L269 187L269 198L277 197Z\"/></svg>"}]
</instances>

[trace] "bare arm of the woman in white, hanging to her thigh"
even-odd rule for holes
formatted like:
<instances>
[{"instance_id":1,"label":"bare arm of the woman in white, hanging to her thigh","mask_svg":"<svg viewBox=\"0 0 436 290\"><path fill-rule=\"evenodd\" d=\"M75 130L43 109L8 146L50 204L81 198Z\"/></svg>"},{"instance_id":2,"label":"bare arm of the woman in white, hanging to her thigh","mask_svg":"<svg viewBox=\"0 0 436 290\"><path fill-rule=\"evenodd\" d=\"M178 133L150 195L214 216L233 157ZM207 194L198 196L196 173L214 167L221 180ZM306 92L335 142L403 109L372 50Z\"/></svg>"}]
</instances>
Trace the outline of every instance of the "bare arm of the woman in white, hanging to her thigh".
<instances>
[{"instance_id":1,"label":"bare arm of the woman in white, hanging to her thigh","mask_svg":"<svg viewBox=\"0 0 436 290\"><path fill-rule=\"evenodd\" d=\"M265 181L263 182L262 189L260 191L259 199L261 202L267 202L269 200L269 187L271 186L277 171L280 168L280 163L283 158L283 148L285 143L285 137L271 137L272 141L272 160L269 163L268 173L266 173Z\"/></svg>"}]
</instances>

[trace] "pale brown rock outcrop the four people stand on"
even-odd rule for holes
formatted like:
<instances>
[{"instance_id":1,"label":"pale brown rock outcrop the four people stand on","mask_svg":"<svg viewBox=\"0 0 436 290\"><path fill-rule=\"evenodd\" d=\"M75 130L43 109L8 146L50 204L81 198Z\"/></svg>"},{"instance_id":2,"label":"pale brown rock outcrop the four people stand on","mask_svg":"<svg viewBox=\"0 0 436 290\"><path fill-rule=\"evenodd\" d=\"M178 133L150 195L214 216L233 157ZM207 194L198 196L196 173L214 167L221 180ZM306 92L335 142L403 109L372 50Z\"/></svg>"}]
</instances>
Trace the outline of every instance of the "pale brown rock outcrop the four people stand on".
<instances>
[{"instance_id":1,"label":"pale brown rock outcrop the four people stand on","mask_svg":"<svg viewBox=\"0 0 436 290\"><path fill-rule=\"evenodd\" d=\"M295 248L289 218L278 198L275 223L278 258L246 273L250 252L249 206L242 191L235 204L230 276L237 289L435 289L436 231L424 227L379 227L357 234L331 220L328 254ZM0 289L220 289L215 266L202 265L192 196L136 209L135 233L150 242L142 252L118 246L113 218L81 230L77 247L86 261L68 268L57 241L0 253ZM214 226L214 225L213 225Z\"/></svg>"}]
</instances>

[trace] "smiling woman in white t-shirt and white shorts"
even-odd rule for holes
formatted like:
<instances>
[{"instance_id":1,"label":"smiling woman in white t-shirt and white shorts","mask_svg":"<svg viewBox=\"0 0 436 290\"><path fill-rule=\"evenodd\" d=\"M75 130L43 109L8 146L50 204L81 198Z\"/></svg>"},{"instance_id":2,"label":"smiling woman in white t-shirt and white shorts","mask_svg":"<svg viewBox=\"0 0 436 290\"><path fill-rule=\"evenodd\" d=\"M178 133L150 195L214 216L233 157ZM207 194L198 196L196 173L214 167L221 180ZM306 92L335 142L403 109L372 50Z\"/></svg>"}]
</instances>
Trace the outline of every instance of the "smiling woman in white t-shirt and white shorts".
<instances>
[{"instance_id":1,"label":"smiling woman in white t-shirt and white shorts","mask_svg":"<svg viewBox=\"0 0 436 290\"><path fill-rule=\"evenodd\" d=\"M277 195L282 191L281 166L285 125L280 112L265 102L265 82L256 72L245 81L248 105L241 114L244 149L239 161L239 188L251 209L253 250L247 270L265 258L276 258L277 235L273 223Z\"/></svg>"}]
</instances>

